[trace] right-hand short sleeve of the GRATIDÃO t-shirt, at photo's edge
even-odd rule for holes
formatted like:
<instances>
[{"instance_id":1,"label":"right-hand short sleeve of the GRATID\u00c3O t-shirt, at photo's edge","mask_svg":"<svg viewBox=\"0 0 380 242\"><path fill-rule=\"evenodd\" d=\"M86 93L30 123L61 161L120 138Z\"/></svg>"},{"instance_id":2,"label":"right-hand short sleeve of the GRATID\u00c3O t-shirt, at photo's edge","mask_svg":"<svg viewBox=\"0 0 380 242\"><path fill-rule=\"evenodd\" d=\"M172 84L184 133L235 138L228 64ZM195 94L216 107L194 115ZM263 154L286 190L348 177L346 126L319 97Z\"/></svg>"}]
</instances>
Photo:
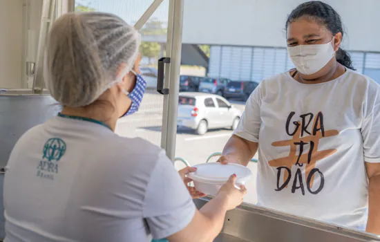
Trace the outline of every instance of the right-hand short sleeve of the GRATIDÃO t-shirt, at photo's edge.
<instances>
[{"instance_id":1,"label":"right-hand short sleeve of the GRATID\u00c3O t-shirt, at photo's edge","mask_svg":"<svg viewBox=\"0 0 380 242\"><path fill-rule=\"evenodd\" d=\"M380 162L380 86L371 83L364 120L361 126L363 153L366 162Z\"/></svg>"}]
</instances>

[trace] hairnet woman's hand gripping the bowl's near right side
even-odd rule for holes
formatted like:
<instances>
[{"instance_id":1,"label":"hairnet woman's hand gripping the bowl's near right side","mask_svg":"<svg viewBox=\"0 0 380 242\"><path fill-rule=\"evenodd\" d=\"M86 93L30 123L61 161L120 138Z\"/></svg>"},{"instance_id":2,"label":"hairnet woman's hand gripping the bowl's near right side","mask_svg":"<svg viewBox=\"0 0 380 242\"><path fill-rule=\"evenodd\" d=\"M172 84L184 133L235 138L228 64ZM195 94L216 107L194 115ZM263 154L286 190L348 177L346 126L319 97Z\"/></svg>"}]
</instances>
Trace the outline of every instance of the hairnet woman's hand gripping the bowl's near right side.
<instances>
[{"instance_id":1,"label":"hairnet woman's hand gripping the bowl's near right side","mask_svg":"<svg viewBox=\"0 0 380 242\"><path fill-rule=\"evenodd\" d=\"M240 190L235 187L236 175L229 177L227 183L223 185L216 198L220 198L225 201L227 210L233 210L243 203L243 198L247 194L247 189L244 185L240 185Z\"/></svg>"}]
</instances>

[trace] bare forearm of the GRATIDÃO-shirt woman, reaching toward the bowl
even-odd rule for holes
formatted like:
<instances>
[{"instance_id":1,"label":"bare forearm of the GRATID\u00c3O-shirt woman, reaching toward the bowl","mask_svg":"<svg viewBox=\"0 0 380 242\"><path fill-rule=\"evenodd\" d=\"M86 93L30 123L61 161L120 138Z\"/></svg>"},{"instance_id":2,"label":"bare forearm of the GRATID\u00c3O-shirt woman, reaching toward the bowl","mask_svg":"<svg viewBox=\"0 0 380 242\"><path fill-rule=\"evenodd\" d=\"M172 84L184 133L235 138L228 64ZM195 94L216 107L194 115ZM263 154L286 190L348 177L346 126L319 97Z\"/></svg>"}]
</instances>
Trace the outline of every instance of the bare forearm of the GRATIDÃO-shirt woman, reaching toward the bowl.
<instances>
[{"instance_id":1,"label":"bare forearm of the GRATID\u00c3O-shirt woman, reaching toward the bowl","mask_svg":"<svg viewBox=\"0 0 380 242\"><path fill-rule=\"evenodd\" d=\"M238 136L231 136L223 149L223 156L232 160L231 162L247 166L256 154L257 147L257 143L249 142Z\"/></svg>"}]
</instances>

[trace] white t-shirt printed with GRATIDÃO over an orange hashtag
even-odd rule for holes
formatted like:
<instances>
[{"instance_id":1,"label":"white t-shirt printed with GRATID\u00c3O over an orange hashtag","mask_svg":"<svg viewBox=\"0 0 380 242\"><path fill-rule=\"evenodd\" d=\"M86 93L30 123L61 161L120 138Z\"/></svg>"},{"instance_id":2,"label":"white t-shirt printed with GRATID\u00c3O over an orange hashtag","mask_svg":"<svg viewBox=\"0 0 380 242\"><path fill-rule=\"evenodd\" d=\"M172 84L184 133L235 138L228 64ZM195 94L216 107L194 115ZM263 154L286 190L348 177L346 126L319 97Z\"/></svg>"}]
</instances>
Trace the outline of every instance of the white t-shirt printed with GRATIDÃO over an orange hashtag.
<instances>
[{"instance_id":1,"label":"white t-shirt printed with GRATID\u00c3O over an orange hashtag","mask_svg":"<svg viewBox=\"0 0 380 242\"><path fill-rule=\"evenodd\" d=\"M365 162L380 162L379 104L379 85L350 70L321 84L289 72L261 82L235 131L259 144L258 205L365 229Z\"/></svg>"}]
</instances>

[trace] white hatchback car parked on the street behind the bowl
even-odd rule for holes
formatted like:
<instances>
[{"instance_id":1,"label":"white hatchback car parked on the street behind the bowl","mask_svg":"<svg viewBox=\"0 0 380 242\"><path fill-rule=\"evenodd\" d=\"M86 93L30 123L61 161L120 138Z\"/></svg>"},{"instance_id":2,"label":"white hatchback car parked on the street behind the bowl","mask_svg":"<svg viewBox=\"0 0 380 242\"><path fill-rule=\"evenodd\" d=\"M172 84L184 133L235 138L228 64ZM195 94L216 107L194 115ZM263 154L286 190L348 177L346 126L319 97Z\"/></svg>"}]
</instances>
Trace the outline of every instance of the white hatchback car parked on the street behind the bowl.
<instances>
[{"instance_id":1,"label":"white hatchback car parked on the street behind the bowl","mask_svg":"<svg viewBox=\"0 0 380 242\"><path fill-rule=\"evenodd\" d=\"M204 135L209 129L236 129L241 111L225 98L207 93L180 93L178 127L193 129Z\"/></svg>"}]
</instances>

